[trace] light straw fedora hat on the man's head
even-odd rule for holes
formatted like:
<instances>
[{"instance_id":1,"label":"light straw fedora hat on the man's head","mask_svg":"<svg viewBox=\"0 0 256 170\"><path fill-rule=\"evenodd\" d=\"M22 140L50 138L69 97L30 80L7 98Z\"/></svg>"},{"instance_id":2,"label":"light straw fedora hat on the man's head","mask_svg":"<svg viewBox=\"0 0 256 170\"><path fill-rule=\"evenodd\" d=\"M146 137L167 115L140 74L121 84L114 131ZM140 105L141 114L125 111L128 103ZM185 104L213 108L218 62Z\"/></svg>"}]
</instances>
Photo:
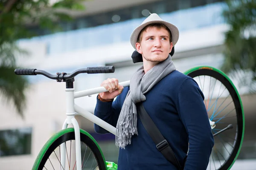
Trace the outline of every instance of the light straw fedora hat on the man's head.
<instances>
[{"instance_id":1,"label":"light straw fedora hat on the man's head","mask_svg":"<svg viewBox=\"0 0 256 170\"><path fill-rule=\"evenodd\" d=\"M130 42L131 42L131 45L133 46L133 48L135 50L137 50L136 47L135 47L135 44L136 44L136 42L138 40L138 36L140 34L140 31L143 28L145 28L145 26L147 26L149 24L152 24L152 23L162 23L163 25L167 26L167 28L169 28L169 30L171 31L171 34L172 34L173 46L177 43L177 41L179 39L179 30L178 30L178 28L175 25L162 20L157 14L150 14L143 21L143 23L140 24L140 26L138 26L137 28L134 29L134 31L131 34Z\"/></svg>"}]
</instances>

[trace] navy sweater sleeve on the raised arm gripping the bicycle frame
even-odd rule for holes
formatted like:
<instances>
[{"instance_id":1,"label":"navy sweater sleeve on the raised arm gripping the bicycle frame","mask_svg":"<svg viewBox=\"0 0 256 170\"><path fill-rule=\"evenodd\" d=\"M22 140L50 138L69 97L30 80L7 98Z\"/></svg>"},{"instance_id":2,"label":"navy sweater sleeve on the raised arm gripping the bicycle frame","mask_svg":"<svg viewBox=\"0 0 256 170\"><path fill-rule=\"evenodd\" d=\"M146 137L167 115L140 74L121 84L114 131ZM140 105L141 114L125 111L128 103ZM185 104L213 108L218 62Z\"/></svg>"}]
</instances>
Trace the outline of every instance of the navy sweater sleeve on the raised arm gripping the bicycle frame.
<instances>
[{"instance_id":1,"label":"navy sweater sleeve on the raised arm gripping the bicycle frame","mask_svg":"<svg viewBox=\"0 0 256 170\"><path fill-rule=\"evenodd\" d=\"M105 122L109 123L110 125L116 127L116 123L121 111L121 104L120 104L120 95L116 97L116 100L113 102L102 102L98 99L96 107L94 110L94 115L99 117L100 119L104 120ZM99 125L94 124L94 130L96 133L109 133L108 130L100 127Z\"/></svg>"}]
</instances>

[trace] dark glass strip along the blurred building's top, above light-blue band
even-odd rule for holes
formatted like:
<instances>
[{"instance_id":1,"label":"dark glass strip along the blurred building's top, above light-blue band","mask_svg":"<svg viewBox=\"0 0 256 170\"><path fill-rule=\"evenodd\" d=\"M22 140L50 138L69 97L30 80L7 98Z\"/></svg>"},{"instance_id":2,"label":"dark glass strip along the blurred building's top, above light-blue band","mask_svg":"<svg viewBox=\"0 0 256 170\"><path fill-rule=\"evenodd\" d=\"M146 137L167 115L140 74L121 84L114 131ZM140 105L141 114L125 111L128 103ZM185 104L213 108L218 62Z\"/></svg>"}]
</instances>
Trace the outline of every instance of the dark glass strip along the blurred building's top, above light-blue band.
<instances>
[{"instance_id":1,"label":"dark glass strip along the blurred building's top, above light-blue band","mask_svg":"<svg viewBox=\"0 0 256 170\"><path fill-rule=\"evenodd\" d=\"M60 23L60 25L63 31L70 31L147 17L149 12L157 14L170 13L181 9L194 8L222 1L224 0L161 0L79 17L72 22ZM113 16L119 16L119 20L113 20ZM49 34L49 31L40 30L38 27L30 29L37 32L39 35Z\"/></svg>"}]
</instances>

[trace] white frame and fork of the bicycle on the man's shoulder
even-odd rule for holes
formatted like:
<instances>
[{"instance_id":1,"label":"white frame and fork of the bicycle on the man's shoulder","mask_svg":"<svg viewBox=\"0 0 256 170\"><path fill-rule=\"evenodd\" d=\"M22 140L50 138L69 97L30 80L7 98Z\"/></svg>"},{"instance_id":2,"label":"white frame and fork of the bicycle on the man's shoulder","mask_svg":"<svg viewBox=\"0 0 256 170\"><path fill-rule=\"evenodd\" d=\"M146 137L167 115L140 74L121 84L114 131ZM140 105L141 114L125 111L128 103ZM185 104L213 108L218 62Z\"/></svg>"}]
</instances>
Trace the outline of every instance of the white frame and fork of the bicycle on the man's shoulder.
<instances>
[{"instance_id":1,"label":"white frame and fork of the bicycle on the man's shoulder","mask_svg":"<svg viewBox=\"0 0 256 170\"><path fill-rule=\"evenodd\" d=\"M127 87L130 85L130 81L120 82L120 85L123 87ZM74 92L74 88L66 88L66 107L67 107L67 119L64 121L62 129L67 128L68 124L72 124L75 130L75 141L76 141L76 168L77 170L81 170L81 143L80 143L80 128L79 124L76 121L75 115L81 115L86 119L90 120L91 122L99 125L100 127L108 130L109 132L116 135L116 128L112 125L108 124L107 122L103 121L102 119L98 118L97 116L93 115L92 113L84 110L78 105L75 105L74 99L84 96L90 96L93 94L99 94L101 92L107 91L104 87L92 88L84 91ZM212 129L215 127L215 122L209 120ZM65 143L61 144L61 165L65 166L66 160L66 146ZM63 169L63 168L62 168Z\"/></svg>"}]
</instances>

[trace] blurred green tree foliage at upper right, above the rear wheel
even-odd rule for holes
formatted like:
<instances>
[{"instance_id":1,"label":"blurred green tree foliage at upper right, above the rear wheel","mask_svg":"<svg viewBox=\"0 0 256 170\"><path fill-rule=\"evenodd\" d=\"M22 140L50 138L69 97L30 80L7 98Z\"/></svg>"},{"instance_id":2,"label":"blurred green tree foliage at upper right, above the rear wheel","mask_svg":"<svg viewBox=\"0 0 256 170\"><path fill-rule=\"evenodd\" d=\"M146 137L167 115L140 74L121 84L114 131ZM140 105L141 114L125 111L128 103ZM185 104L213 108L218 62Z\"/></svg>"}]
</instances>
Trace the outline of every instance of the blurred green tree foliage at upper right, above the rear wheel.
<instances>
[{"instance_id":1,"label":"blurred green tree foliage at upper right, above the rear wheel","mask_svg":"<svg viewBox=\"0 0 256 170\"><path fill-rule=\"evenodd\" d=\"M223 16L230 30L225 34L225 59L221 69L239 79L239 86L252 88L256 80L256 1L226 0L226 3ZM247 74L238 74L241 71ZM244 76L249 80L245 81Z\"/></svg>"}]
</instances>

